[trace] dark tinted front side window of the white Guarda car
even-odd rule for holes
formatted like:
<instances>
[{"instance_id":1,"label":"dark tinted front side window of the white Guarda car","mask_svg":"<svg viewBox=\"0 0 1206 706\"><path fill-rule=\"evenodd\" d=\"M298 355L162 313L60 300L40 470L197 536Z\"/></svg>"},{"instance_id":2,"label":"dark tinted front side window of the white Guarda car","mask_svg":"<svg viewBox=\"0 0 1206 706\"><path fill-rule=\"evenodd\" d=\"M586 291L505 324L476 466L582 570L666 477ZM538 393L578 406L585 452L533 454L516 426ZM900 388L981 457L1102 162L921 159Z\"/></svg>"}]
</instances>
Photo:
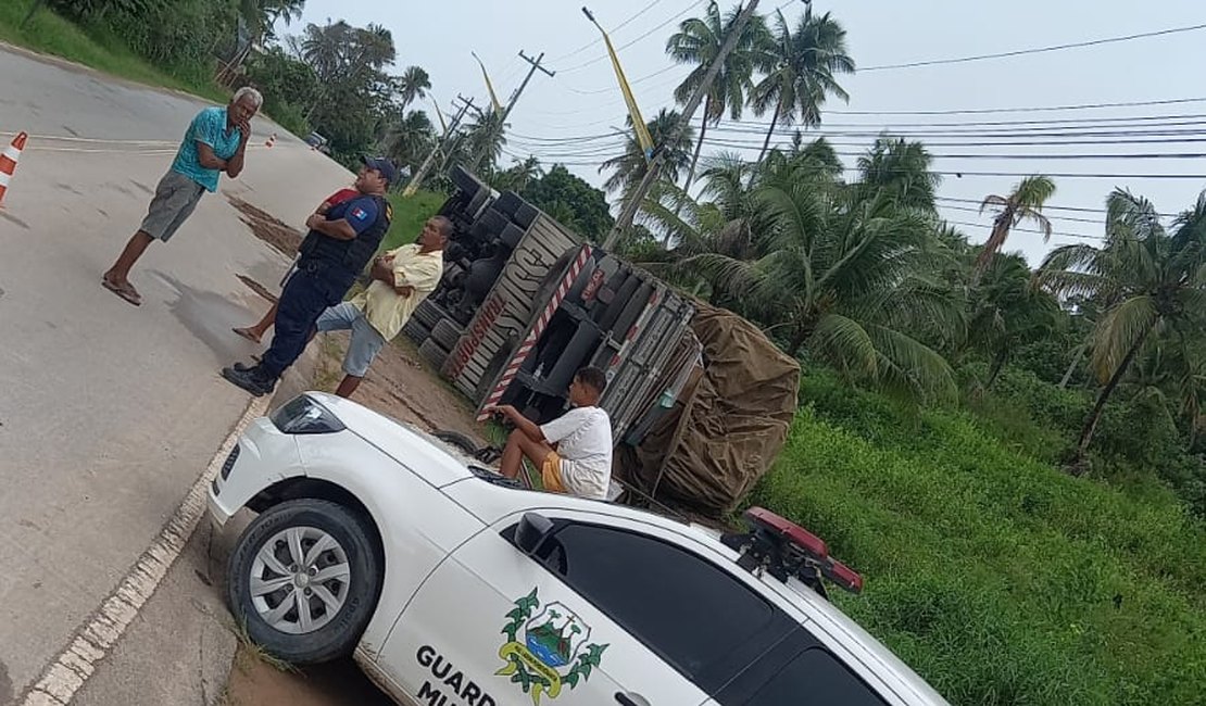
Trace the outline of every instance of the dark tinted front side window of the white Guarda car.
<instances>
[{"instance_id":1,"label":"dark tinted front side window of the white Guarda car","mask_svg":"<svg viewBox=\"0 0 1206 706\"><path fill-rule=\"evenodd\" d=\"M756 653L751 641L769 643L791 628L728 572L655 537L568 524L545 547L539 558L550 570L703 688L744 666L731 658Z\"/></svg>"}]
</instances>

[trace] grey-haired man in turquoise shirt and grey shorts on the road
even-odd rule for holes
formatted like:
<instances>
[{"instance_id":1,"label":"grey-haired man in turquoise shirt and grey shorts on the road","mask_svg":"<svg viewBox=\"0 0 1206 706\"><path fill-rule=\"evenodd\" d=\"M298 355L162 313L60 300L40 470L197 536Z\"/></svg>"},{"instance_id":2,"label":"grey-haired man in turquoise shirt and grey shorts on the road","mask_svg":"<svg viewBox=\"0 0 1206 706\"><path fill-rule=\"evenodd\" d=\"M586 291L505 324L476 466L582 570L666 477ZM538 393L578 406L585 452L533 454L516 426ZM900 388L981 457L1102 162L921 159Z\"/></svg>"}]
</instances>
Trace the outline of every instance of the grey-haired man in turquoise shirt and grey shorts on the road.
<instances>
[{"instance_id":1,"label":"grey-haired man in turquoise shirt and grey shorts on the road","mask_svg":"<svg viewBox=\"0 0 1206 706\"><path fill-rule=\"evenodd\" d=\"M142 295L130 284L130 267L153 240L168 242L197 208L205 192L218 190L218 176L234 178L242 171L251 118L264 98L254 88L240 88L226 107L209 107L197 113L185 133L171 169L159 180L151 207L134 237L113 266L101 277L101 284L134 306Z\"/></svg>"}]
</instances>

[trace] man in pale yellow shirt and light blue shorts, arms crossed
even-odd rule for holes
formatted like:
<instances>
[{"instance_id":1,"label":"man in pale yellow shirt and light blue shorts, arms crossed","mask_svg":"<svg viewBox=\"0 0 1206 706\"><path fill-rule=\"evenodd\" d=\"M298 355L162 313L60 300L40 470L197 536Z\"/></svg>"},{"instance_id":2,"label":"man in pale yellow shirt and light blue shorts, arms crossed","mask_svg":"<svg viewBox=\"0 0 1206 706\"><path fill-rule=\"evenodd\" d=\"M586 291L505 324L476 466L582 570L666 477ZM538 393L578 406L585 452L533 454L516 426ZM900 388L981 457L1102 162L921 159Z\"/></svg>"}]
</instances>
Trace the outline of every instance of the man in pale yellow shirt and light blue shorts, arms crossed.
<instances>
[{"instance_id":1,"label":"man in pale yellow shirt and light blue shorts, arms crossed","mask_svg":"<svg viewBox=\"0 0 1206 706\"><path fill-rule=\"evenodd\" d=\"M451 220L443 216L428 218L414 245L404 245L374 260L368 289L318 317L315 328L320 331L352 331L336 395L349 398L356 392L381 348L439 286L444 246L451 235Z\"/></svg>"}]
</instances>

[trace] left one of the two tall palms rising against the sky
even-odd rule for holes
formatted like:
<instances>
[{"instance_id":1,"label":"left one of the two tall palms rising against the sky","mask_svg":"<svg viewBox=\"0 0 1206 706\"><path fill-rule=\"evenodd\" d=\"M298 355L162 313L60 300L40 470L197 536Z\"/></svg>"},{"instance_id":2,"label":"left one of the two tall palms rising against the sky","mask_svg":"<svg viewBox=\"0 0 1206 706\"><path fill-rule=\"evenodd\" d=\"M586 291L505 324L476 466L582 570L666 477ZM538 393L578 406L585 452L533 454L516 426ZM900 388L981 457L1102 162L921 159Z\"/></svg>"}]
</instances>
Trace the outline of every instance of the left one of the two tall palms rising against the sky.
<instances>
[{"instance_id":1,"label":"left one of the two tall palms rising against the sky","mask_svg":"<svg viewBox=\"0 0 1206 706\"><path fill-rule=\"evenodd\" d=\"M703 17L683 20L679 31L666 42L666 53L674 61L696 65L695 70L687 73L683 83L674 89L674 100L679 105L685 105L703 84L708 70L720 55L720 47L732 35L733 25L739 14L740 6L737 6L721 17L720 7L713 0L708 4ZM742 108L745 107L745 94L753 88L751 76L757 58L755 49L765 46L767 41L766 20L761 16L754 16L745 23L742 36L725 57L720 71L708 86L703 101L703 118L699 122L699 137L695 143L695 154L691 157L691 166L687 167L684 189L691 188L691 180L695 176L695 166L699 161L699 149L703 147L708 124L719 123L726 107L730 118L740 119Z\"/></svg>"}]
</instances>

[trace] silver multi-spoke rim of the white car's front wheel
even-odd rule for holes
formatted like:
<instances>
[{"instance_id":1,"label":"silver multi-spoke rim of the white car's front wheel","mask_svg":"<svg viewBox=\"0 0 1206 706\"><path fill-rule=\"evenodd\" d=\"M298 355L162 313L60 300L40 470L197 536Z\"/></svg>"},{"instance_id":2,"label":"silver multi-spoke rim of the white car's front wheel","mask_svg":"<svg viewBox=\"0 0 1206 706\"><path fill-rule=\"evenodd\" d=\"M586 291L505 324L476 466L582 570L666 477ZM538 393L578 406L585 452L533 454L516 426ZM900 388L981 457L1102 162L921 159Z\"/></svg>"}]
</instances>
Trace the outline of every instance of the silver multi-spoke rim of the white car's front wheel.
<instances>
[{"instance_id":1,"label":"silver multi-spoke rim of the white car's front wheel","mask_svg":"<svg viewBox=\"0 0 1206 706\"><path fill-rule=\"evenodd\" d=\"M252 606L273 629L306 635L330 623L347 600L351 566L335 537L314 526L283 529L256 552Z\"/></svg>"}]
</instances>

